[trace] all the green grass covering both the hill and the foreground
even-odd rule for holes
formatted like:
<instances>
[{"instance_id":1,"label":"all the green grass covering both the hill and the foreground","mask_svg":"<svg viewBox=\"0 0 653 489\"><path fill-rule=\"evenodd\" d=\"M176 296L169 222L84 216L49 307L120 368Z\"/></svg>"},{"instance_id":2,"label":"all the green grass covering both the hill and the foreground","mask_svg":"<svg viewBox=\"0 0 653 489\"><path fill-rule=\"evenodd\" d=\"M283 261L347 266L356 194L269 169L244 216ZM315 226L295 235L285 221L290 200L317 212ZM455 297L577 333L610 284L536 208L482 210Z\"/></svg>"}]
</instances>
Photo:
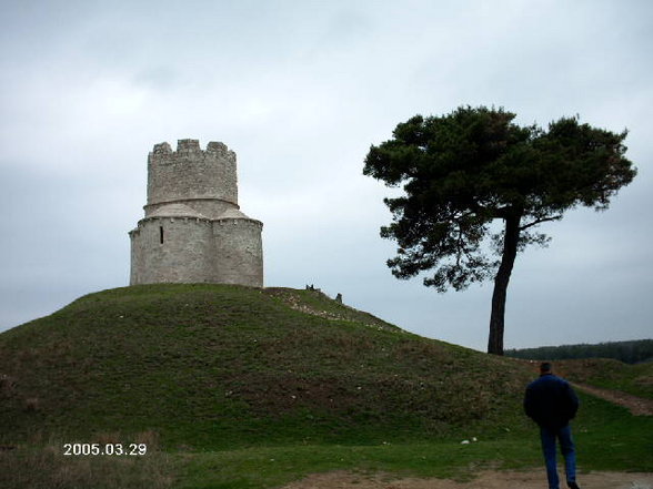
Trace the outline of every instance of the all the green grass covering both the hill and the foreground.
<instances>
[{"instance_id":1,"label":"all the green grass covering both the hill and the foreground","mask_svg":"<svg viewBox=\"0 0 653 489\"><path fill-rule=\"evenodd\" d=\"M645 385L639 368L601 371ZM310 291L104 291L0 335L0 466L68 475L61 488L93 486L93 473L108 488L272 488L335 469L464 478L540 466L521 406L534 375ZM653 418L582 400L581 468L653 471ZM159 447L150 462L60 454L143 434Z\"/></svg>"}]
</instances>

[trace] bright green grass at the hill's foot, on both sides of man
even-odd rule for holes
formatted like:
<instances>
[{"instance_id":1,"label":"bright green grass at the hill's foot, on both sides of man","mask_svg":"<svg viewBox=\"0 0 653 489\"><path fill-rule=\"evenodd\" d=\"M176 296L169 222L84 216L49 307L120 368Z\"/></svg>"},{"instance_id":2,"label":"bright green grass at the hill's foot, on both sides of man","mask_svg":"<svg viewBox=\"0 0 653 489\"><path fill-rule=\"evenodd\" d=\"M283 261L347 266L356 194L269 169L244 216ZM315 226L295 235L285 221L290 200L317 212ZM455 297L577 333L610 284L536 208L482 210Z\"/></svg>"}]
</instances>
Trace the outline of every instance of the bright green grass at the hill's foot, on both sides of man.
<instances>
[{"instance_id":1,"label":"bright green grass at the hill's foot, on both sides of man","mask_svg":"<svg viewBox=\"0 0 653 489\"><path fill-rule=\"evenodd\" d=\"M653 418L582 395L573 424L579 470L653 471ZM462 434L461 434L462 435ZM465 434L466 439L474 431ZM461 445L431 440L368 446L294 445L179 455L179 487L272 488L309 473L349 470L393 477L438 477L465 480L483 469L542 467L538 428L505 431Z\"/></svg>"}]
</instances>

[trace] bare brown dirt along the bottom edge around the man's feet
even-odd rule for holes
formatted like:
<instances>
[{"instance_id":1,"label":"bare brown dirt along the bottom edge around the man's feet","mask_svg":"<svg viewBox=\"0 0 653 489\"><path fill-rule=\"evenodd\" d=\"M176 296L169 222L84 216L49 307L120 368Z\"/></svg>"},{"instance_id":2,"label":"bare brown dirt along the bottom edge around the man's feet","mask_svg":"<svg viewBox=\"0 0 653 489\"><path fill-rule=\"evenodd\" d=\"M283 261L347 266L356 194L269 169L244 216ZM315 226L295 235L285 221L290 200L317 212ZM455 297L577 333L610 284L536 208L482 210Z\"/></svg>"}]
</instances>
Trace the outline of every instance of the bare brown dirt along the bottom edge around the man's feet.
<instances>
[{"instance_id":1,"label":"bare brown dirt along the bottom edge around the man's feet","mask_svg":"<svg viewBox=\"0 0 653 489\"><path fill-rule=\"evenodd\" d=\"M581 473L579 486L583 489L653 489L653 473ZM449 479L398 479L383 473L333 471L309 476L283 489L542 489L544 487L546 487L546 473L542 469L522 472L481 472L470 482L455 482Z\"/></svg>"}]
</instances>

